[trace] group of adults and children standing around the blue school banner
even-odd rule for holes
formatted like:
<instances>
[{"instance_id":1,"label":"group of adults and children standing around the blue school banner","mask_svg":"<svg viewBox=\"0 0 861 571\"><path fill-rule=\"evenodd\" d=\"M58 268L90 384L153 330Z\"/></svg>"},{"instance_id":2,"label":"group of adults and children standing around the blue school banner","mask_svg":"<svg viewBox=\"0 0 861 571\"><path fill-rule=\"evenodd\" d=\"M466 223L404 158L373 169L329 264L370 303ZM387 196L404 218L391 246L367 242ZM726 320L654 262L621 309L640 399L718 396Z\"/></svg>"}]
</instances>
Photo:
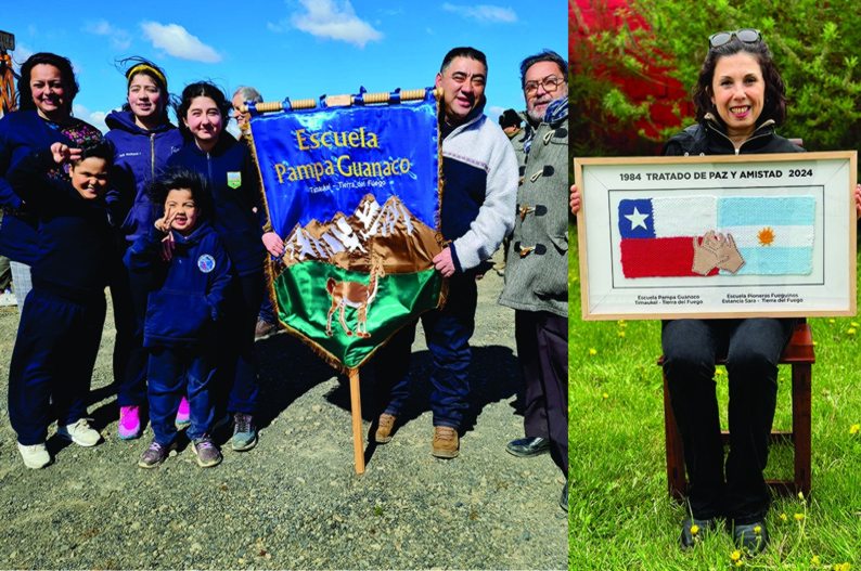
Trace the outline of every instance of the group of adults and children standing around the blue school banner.
<instances>
[{"instance_id":1,"label":"group of adults and children standing around the blue school banner","mask_svg":"<svg viewBox=\"0 0 861 571\"><path fill-rule=\"evenodd\" d=\"M22 315L10 367L9 410L24 464L50 464L48 427L79 445L101 436L86 402L110 288L120 439L154 438L138 462L158 466L187 437L202 467L221 462L213 431L232 420L235 451L257 442L255 337L271 332L271 232L246 138L246 101L206 81L187 86L170 122L167 76L126 62L126 101L110 131L73 117L69 61L31 55L21 67L20 111L0 119L0 255L12 260ZM436 87L445 193L434 259L448 302L422 315L431 375L435 456L460 452L470 407L470 338L481 262L511 235L500 303L514 308L525 380L526 439L509 451L545 451L567 481L567 63L554 52L521 66L526 125L511 141L484 114L488 65L474 48L446 54ZM31 278L31 289L30 289ZM29 290L29 291L28 291ZM25 301L26 296L26 301ZM410 391L415 323L377 354L385 405L375 440L388 442ZM560 505L567 509L567 484Z\"/></svg>"}]
</instances>

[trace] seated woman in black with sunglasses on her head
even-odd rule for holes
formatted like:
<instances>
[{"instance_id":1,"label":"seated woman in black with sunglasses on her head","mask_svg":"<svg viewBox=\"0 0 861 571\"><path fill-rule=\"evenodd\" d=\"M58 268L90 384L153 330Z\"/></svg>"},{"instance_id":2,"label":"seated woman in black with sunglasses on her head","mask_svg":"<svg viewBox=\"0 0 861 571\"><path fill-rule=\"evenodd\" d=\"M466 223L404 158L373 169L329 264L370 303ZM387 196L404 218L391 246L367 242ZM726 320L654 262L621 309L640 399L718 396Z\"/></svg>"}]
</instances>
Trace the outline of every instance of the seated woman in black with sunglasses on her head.
<instances>
[{"instance_id":1,"label":"seated woman in black with sunglasses on her head","mask_svg":"<svg viewBox=\"0 0 861 571\"><path fill-rule=\"evenodd\" d=\"M672 137L666 156L797 153L802 148L776 134L786 118L786 90L758 30L720 31L694 88L696 124ZM854 190L861 219L861 185ZM581 206L570 189L571 213ZM771 495L762 472L778 394L778 361L793 319L671 320L661 324L664 372L682 438L690 482L689 517L680 545L727 520L733 540L748 553L769 543L766 527ZM716 360L725 358L729 377L730 450L724 463L715 385Z\"/></svg>"}]
</instances>

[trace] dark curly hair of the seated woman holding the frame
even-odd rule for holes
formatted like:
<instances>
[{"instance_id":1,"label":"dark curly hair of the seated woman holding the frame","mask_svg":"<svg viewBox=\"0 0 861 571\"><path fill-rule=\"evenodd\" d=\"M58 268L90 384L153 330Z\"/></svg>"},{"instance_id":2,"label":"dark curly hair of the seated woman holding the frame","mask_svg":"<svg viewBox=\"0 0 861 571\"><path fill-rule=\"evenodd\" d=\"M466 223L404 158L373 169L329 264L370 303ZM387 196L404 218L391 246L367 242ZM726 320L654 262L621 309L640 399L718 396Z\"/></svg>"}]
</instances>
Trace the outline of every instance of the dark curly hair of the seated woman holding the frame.
<instances>
[{"instance_id":1,"label":"dark curly hair of the seated woman holding the frame","mask_svg":"<svg viewBox=\"0 0 861 571\"><path fill-rule=\"evenodd\" d=\"M699 69L699 77L693 90L694 107L696 108L696 120L702 121L707 113L711 113L717 120L720 116L711 103L711 82L715 78L715 67L718 60L736 53L745 52L750 54L759 63L762 70L762 79L766 82L766 100L762 103L762 113L757 118L756 125L762 125L769 119L773 119L776 126L786 120L786 86L783 78L774 65L771 51L764 41L743 42L738 38L732 38L729 42L718 48L709 48L703 67ZM722 121L721 121L722 122Z\"/></svg>"}]
</instances>

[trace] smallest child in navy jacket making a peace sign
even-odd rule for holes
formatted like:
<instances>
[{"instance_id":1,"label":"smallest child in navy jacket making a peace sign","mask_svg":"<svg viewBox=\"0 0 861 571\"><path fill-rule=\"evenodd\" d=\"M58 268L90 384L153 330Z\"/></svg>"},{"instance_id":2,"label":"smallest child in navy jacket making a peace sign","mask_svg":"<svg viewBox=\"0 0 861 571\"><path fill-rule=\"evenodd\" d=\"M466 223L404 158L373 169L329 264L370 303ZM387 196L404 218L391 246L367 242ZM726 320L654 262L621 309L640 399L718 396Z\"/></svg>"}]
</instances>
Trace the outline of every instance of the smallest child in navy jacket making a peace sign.
<instances>
[{"instance_id":1,"label":"smallest child in navy jacket making a peace sign","mask_svg":"<svg viewBox=\"0 0 861 571\"><path fill-rule=\"evenodd\" d=\"M211 198L201 177L175 169L150 186L164 216L126 251L132 280L147 283L150 295L143 346L150 351L146 378L153 438L138 466L154 468L176 445L174 420L188 394L188 437L201 467L221 462L209 437L215 416L211 398L216 374L216 322L224 311L230 261L209 224ZM171 241L172 251L163 248Z\"/></svg>"}]
</instances>

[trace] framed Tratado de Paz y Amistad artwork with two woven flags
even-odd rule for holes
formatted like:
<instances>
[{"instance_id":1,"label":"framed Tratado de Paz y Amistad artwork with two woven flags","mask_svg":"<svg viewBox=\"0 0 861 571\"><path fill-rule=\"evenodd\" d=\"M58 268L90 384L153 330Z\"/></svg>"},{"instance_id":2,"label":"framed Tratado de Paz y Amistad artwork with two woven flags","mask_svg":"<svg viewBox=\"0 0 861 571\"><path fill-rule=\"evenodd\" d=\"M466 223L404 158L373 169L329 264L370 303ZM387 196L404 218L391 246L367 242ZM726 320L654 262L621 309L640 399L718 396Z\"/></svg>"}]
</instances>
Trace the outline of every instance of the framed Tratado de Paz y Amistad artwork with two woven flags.
<instances>
[{"instance_id":1,"label":"framed Tratado de Paz y Amistad artwork with two woven flags","mask_svg":"<svg viewBox=\"0 0 861 571\"><path fill-rule=\"evenodd\" d=\"M854 151L576 158L582 319L854 315L856 181Z\"/></svg>"}]
</instances>

